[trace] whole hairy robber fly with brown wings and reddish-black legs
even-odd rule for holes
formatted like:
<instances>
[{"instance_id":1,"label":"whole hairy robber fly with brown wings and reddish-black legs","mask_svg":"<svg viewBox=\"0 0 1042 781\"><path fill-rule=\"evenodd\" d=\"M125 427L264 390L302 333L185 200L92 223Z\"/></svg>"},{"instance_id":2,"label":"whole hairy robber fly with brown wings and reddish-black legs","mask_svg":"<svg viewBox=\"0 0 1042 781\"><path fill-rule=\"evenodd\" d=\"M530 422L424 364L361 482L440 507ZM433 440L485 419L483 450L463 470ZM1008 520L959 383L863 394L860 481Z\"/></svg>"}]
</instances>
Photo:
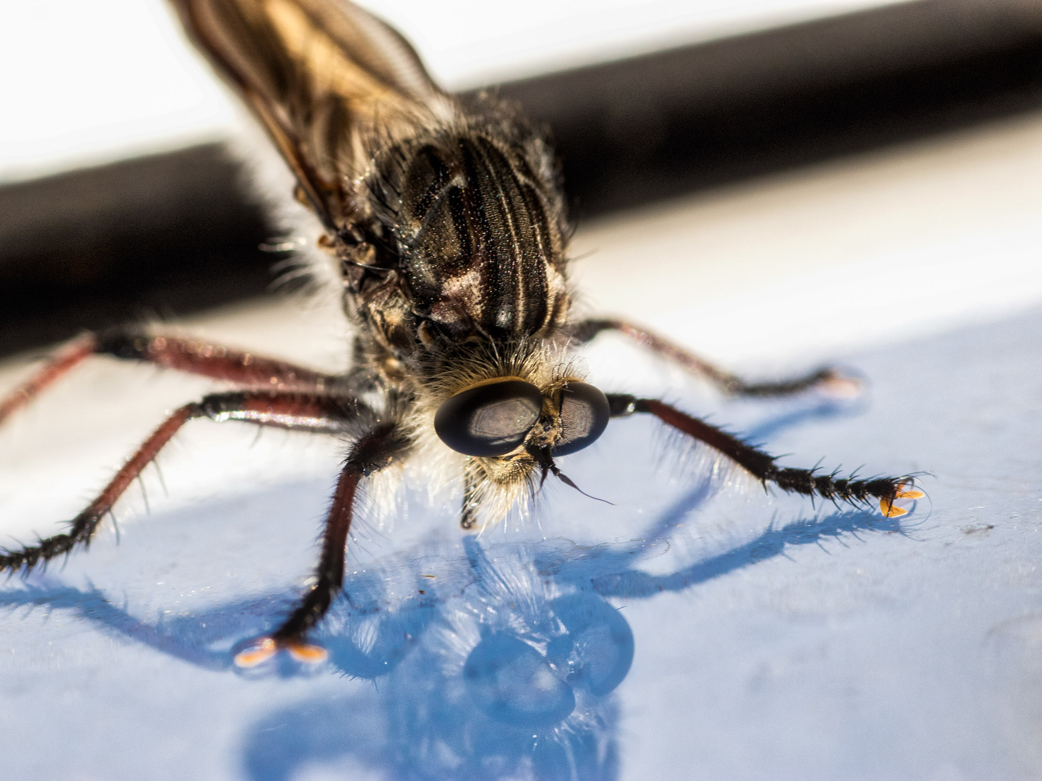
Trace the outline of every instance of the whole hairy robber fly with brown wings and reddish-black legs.
<instances>
[{"instance_id":1,"label":"whole hairy robber fly with brown wings and reddish-black legs","mask_svg":"<svg viewBox=\"0 0 1042 781\"><path fill-rule=\"evenodd\" d=\"M0 403L0 419L91 355L204 375L235 389L172 412L63 534L0 552L28 572L85 548L130 482L191 420L342 437L313 585L270 636L235 656L257 664L280 650L303 661L344 579L361 484L423 451L454 459L461 525L501 518L557 460L586 448L612 418L645 413L713 448L765 485L833 501L917 499L911 477L844 479L783 469L766 453L654 399L604 394L568 360L605 330L708 377L723 392L779 396L842 383L824 370L747 384L620 320L571 316L568 224L548 143L518 109L489 95L463 100L431 81L395 30L348 0L172 0L214 68L239 93L319 219L317 256L334 264L355 327L352 369L320 374L217 345L122 327L80 336Z\"/></svg>"}]
</instances>

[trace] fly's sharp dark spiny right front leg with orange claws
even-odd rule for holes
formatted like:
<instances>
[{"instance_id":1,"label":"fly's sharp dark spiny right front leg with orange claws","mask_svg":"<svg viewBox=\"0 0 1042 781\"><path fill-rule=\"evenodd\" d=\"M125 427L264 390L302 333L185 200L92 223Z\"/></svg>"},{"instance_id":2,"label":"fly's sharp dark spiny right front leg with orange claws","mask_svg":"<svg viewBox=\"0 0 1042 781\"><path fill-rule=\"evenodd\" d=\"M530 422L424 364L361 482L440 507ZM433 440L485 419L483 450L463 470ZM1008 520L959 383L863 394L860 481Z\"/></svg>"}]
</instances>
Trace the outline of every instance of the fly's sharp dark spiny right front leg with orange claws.
<instances>
[{"instance_id":1,"label":"fly's sharp dark spiny right front leg with orange claws","mask_svg":"<svg viewBox=\"0 0 1042 781\"><path fill-rule=\"evenodd\" d=\"M908 512L894 502L898 499L921 499L923 494L914 489L915 480L911 476L877 477L870 480L840 478L835 473L816 474L814 470L783 469L774 463L774 457L767 455L741 439L693 418L665 402L655 399L638 399L635 396L610 394L607 397L613 418L621 418L634 412L647 412L668 426L683 431L689 436L703 442L723 453L739 467L759 479L791 494L821 497L834 502L865 504L878 502L879 509L888 518L896 518Z\"/></svg>"}]
</instances>

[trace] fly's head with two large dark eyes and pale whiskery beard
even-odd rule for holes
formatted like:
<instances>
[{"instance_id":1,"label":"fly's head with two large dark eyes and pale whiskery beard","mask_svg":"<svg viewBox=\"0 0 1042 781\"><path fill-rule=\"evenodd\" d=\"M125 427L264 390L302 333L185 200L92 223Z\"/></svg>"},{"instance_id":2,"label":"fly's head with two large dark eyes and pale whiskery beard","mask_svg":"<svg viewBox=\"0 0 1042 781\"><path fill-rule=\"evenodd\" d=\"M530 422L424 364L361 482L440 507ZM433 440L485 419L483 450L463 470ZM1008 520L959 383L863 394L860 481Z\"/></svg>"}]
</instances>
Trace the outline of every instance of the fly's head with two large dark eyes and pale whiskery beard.
<instances>
[{"instance_id":1,"label":"fly's head with two large dark eyes and pale whiskery beard","mask_svg":"<svg viewBox=\"0 0 1042 781\"><path fill-rule=\"evenodd\" d=\"M574 367L553 368L543 358L532 351L513 366L490 363L486 376L471 374L437 405L435 432L467 456L467 501L487 521L504 515L548 475L571 485L556 459L589 447L607 426L604 394Z\"/></svg>"}]
</instances>

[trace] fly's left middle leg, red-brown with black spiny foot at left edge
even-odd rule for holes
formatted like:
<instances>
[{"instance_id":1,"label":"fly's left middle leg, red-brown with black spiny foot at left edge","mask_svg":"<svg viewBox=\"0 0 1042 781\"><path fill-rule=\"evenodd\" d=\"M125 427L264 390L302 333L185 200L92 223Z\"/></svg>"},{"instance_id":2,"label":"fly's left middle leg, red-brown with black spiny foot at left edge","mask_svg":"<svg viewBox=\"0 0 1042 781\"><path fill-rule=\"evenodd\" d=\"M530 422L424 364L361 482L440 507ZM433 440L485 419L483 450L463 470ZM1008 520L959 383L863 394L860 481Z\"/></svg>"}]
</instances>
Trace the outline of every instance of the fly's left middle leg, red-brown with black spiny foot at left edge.
<instances>
[{"instance_id":1,"label":"fly's left middle leg, red-brown with black spiny foot at left edge","mask_svg":"<svg viewBox=\"0 0 1042 781\"><path fill-rule=\"evenodd\" d=\"M353 418L368 412L352 399L278 393L214 394L200 402L185 404L167 418L152 432L123 468L86 508L70 524L69 531L40 540L19 550L0 551L0 572L28 573L51 559L90 545L101 520L108 513L127 486L142 473L163 447L191 420L209 418L222 422L247 421L259 426L314 431L342 432Z\"/></svg>"}]
</instances>

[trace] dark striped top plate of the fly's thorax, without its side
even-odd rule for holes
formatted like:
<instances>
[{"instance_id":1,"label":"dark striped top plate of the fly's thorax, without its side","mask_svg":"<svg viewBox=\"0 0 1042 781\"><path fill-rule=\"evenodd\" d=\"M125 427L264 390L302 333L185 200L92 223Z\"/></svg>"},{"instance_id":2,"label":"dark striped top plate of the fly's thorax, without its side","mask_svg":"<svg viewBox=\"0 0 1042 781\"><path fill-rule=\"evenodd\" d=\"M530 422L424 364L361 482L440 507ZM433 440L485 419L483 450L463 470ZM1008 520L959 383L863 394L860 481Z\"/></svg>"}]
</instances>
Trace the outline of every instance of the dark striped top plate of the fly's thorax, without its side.
<instances>
[{"instance_id":1,"label":"dark striped top plate of the fly's thorax, without its side","mask_svg":"<svg viewBox=\"0 0 1042 781\"><path fill-rule=\"evenodd\" d=\"M449 344L560 328L564 218L545 147L489 123L439 130L380 150L365 180L415 317Z\"/></svg>"}]
</instances>

